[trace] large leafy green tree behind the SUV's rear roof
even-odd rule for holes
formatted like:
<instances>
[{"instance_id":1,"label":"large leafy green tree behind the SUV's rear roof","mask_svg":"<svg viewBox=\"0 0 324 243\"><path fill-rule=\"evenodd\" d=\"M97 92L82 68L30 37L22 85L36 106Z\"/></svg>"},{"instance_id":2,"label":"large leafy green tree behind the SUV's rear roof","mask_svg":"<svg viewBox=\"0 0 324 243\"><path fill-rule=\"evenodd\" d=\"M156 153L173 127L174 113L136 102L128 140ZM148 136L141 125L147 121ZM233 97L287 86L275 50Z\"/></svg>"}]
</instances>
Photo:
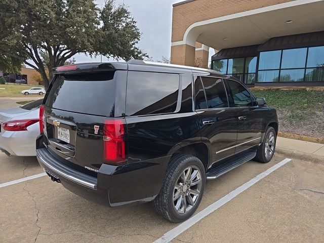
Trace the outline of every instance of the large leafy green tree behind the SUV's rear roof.
<instances>
[{"instance_id":1,"label":"large leafy green tree behind the SUV's rear roof","mask_svg":"<svg viewBox=\"0 0 324 243\"><path fill-rule=\"evenodd\" d=\"M41 74L47 88L52 68L77 53L143 59L147 54L136 47L141 37L136 24L127 7L113 0L102 9L94 0L2 0L0 69L20 70L25 63Z\"/></svg>"}]
</instances>

